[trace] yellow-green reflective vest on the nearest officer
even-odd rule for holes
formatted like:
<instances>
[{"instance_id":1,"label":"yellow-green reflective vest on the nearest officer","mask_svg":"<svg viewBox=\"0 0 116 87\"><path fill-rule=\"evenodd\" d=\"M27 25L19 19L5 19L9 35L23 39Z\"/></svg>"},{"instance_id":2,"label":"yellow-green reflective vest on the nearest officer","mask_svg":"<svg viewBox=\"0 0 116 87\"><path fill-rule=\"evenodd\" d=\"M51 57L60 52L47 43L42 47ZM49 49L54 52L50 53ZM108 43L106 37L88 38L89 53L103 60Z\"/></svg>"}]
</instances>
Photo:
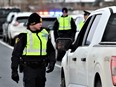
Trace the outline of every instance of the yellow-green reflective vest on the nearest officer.
<instances>
[{"instance_id":1,"label":"yellow-green reflective vest on the nearest officer","mask_svg":"<svg viewBox=\"0 0 116 87\"><path fill-rule=\"evenodd\" d=\"M27 44L23 55L47 55L48 32L43 29L41 32L32 33L27 30Z\"/></svg>"}]
</instances>

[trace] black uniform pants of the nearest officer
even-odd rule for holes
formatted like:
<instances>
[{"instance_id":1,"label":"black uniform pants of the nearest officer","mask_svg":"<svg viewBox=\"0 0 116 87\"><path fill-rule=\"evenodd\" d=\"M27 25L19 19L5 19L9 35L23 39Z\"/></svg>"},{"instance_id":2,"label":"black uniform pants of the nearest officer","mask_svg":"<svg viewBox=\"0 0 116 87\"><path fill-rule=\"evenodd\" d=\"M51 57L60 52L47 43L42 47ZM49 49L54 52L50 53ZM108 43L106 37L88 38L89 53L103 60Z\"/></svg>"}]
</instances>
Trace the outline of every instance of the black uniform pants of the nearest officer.
<instances>
[{"instance_id":1,"label":"black uniform pants of the nearest officer","mask_svg":"<svg viewBox=\"0 0 116 87\"><path fill-rule=\"evenodd\" d=\"M24 66L24 87L45 87L46 66Z\"/></svg>"}]
</instances>

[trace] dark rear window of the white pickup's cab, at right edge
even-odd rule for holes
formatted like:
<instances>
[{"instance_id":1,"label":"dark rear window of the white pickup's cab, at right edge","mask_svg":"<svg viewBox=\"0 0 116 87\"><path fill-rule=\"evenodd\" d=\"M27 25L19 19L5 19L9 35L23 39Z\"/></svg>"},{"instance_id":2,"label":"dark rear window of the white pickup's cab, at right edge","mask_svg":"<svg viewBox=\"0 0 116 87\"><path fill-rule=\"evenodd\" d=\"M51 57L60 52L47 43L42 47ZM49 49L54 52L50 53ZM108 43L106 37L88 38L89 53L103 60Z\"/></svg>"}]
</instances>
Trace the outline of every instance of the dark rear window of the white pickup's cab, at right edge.
<instances>
[{"instance_id":1,"label":"dark rear window of the white pickup's cab, at right edge","mask_svg":"<svg viewBox=\"0 0 116 87\"><path fill-rule=\"evenodd\" d=\"M103 34L102 42L114 42L116 41L116 14L112 14L105 32Z\"/></svg>"}]
</instances>

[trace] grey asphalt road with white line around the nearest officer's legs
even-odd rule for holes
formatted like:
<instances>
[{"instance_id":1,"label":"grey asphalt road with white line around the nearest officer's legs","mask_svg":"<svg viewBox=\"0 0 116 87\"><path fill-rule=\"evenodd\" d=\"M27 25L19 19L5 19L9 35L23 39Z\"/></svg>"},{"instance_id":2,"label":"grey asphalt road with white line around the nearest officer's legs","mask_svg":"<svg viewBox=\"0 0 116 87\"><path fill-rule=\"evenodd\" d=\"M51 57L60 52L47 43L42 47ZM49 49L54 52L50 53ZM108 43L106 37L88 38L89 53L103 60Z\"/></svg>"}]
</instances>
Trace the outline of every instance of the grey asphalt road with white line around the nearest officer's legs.
<instances>
[{"instance_id":1,"label":"grey asphalt road with white line around the nearest officer's legs","mask_svg":"<svg viewBox=\"0 0 116 87\"><path fill-rule=\"evenodd\" d=\"M23 87L23 74L19 73L20 81L17 84L11 79L11 55L13 47L0 41L0 87ZM60 87L60 62L55 69L46 74L45 87Z\"/></svg>"}]
</instances>

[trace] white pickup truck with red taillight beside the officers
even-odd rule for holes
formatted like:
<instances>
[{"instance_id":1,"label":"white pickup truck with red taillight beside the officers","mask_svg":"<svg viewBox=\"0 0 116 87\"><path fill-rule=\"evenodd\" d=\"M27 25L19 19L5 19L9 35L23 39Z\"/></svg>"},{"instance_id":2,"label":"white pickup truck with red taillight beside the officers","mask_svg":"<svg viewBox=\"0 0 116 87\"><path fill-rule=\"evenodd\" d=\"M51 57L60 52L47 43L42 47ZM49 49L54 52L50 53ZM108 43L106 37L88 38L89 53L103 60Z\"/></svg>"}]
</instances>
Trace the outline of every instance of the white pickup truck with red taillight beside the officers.
<instances>
[{"instance_id":1,"label":"white pickup truck with red taillight beside the officers","mask_svg":"<svg viewBox=\"0 0 116 87\"><path fill-rule=\"evenodd\" d=\"M116 7L93 11L61 63L61 87L116 87Z\"/></svg>"}]
</instances>

